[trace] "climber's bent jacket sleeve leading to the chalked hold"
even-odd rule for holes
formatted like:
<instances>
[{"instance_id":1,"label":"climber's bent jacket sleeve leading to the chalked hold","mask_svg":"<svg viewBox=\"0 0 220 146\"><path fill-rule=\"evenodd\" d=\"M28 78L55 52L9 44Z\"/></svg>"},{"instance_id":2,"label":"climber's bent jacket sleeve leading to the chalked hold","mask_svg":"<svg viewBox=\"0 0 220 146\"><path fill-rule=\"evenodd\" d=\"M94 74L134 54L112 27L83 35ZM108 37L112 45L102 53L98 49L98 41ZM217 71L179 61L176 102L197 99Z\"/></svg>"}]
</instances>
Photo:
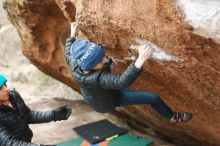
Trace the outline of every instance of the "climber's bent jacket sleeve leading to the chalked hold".
<instances>
[{"instance_id":1,"label":"climber's bent jacket sleeve leading to the chalked hold","mask_svg":"<svg viewBox=\"0 0 220 146\"><path fill-rule=\"evenodd\" d=\"M136 80L142 70L131 63L122 74L103 71L99 78L99 85L105 89L126 89Z\"/></svg>"}]
</instances>

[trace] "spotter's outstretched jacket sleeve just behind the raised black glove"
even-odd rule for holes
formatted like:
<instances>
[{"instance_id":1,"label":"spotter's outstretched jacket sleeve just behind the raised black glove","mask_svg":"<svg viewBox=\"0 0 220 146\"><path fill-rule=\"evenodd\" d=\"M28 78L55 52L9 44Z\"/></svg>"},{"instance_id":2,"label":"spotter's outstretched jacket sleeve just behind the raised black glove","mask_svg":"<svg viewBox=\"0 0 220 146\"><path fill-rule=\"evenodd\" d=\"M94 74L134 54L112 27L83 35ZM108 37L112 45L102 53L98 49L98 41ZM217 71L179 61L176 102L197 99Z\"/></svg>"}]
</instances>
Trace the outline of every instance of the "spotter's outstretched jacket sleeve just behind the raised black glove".
<instances>
[{"instance_id":1,"label":"spotter's outstretched jacket sleeve just behind the raised black glove","mask_svg":"<svg viewBox=\"0 0 220 146\"><path fill-rule=\"evenodd\" d=\"M55 121L54 111L31 111L28 124L40 124Z\"/></svg>"}]
</instances>

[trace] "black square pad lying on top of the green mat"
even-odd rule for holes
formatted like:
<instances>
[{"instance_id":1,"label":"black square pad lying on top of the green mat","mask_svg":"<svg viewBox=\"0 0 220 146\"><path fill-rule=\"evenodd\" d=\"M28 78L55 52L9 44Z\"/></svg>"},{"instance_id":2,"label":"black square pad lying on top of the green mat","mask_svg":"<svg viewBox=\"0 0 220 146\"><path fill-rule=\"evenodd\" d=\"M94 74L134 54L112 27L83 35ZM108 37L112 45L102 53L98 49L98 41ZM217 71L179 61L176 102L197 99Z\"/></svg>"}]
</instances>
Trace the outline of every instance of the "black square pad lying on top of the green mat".
<instances>
[{"instance_id":1,"label":"black square pad lying on top of the green mat","mask_svg":"<svg viewBox=\"0 0 220 146\"><path fill-rule=\"evenodd\" d=\"M99 143L114 135L122 135L128 131L106 119L78 126L73 129L91 144Z\"/></svg>"}]
</instances>

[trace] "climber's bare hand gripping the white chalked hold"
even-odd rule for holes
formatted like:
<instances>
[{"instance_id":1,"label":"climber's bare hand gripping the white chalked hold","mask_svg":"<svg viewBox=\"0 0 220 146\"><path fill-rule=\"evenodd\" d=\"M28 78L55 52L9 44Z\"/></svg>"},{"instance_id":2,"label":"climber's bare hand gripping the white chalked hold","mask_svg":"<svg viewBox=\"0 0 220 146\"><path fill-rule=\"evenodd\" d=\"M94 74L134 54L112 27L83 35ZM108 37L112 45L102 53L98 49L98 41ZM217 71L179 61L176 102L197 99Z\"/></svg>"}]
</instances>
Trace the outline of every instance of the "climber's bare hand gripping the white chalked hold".
<instances>
[{"instance_id":1,"label":"climber's bare hand gripping the white chalked hold","mask_svg":"<svg viewBox=\"0 0 220 146\"><path fill-rule=\"evenodd\" d=\"M149 46L147 45L141 45L139 48L138 48L138 59L136 60L135 62L135 66L137 68L141 68L144 64L144 62L150 58L151 54L153 53L153 49L150 48Z\"/></svg>"}]
</instances>

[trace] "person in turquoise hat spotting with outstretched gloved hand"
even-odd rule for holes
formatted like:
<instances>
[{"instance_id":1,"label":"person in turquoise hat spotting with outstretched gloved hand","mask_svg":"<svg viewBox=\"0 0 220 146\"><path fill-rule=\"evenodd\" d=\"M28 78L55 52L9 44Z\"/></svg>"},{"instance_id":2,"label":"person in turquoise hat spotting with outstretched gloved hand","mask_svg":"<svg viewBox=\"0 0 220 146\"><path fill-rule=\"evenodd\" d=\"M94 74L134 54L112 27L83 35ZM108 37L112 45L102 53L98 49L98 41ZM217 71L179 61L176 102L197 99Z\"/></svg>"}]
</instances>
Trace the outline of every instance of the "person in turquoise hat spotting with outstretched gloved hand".
<instances>
[{"instance_id":1,"label":"person in turquoise hat spotting with outstretched gloved hand","mask_svg":"<svg viewBox=\"0 0 220 146\"><path fill-rule=\"evenodd\" d=\"M66 106L51 111L33 111L20 94L7 87L7 79L0 74L0 145L1 146L39 146L31 143L33 133L28 124L67 120L71 109ZM43 145L40 146L55 146Z\"/></svg>"}]
</instances>

